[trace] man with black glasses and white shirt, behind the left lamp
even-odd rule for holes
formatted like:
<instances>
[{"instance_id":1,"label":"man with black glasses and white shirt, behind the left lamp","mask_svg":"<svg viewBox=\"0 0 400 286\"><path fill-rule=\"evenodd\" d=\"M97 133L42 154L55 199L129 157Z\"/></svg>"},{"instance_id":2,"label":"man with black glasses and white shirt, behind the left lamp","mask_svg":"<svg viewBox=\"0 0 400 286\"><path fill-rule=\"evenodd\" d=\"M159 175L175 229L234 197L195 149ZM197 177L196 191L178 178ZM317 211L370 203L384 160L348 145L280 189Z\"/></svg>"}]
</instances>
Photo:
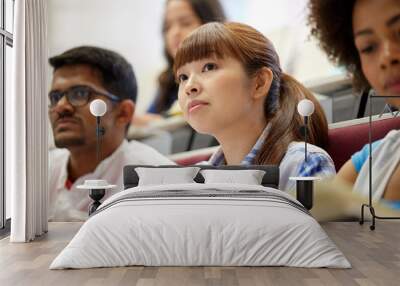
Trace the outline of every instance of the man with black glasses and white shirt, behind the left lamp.
<instances>
[{"instance_id":1,"label":"man with black glasses and white shirt, behind the left lamp","mask_svg":"<svg viewBox=\"0 0 400 286\"><path fill-rule=\"evenodd\" d=\"M54 68L49 92L49 117L57 148L49 154L49 219L87 218L91 200L77 189L87 179L105 179L123 189L122 169L128 164L173 164L149 146L128 142L126 132L135 110L137 86L131 65L119 54L97 47L73 48L49 59ZM96 118L89 105L107 104L101 118L99 162L96 158Z\"/></svg>"}]
</instances>

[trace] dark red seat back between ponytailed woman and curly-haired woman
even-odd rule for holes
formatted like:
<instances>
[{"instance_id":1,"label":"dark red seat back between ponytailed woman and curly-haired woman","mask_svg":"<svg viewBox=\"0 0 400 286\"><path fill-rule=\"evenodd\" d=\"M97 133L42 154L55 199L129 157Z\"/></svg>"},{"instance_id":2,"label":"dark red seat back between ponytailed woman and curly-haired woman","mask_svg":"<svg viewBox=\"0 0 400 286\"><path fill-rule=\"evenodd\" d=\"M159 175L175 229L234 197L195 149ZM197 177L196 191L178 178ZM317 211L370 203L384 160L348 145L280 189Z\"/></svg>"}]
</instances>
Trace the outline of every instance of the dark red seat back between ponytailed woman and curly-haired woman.
<instances>
[{"instance_id":1,"label":"dark red seat back between ponytailed woman and curly-haired woman","mask_svg":"<svg viewBox=\"0 0 400 286\"><path fill-rule=\"evenodd\" d=\"M335 127L336 124L329 127L329 143L326 148L335 163L338 171L351 155L359 151L369 142L368 118L361 120L350 120L347 126L339 123L342 127ZM346 124L346 123L344 123ZM377 119L372 122L372 141L381 139L393 129L400 129L400 117Z\"/></svg>"}]
</instances>

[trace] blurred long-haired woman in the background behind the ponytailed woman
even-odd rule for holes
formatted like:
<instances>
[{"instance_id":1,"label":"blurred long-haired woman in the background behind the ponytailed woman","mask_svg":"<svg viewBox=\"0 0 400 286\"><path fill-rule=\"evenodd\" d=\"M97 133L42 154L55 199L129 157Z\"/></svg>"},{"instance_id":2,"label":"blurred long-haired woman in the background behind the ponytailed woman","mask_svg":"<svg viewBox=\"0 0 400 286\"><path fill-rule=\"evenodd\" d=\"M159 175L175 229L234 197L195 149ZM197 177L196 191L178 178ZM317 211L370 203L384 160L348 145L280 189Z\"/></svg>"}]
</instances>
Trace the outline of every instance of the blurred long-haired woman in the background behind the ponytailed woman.
<instances>
[{"instance_id":1,"label":"blurred long-haired woman in the background behind the ponytailed woman","mask_svg":"<svg viewBox=\"0 0 400 286\"><path fill-rule=\"evenodd\" d=\"M135 116L134 125L162 119L172 114L178 98L172 67L176 51L182 40L202 24L224 21L225 14L218 0L167 0L163 23L164 55L167 60L166 69L158 77L158 90L147 113ZM178 109L179 110L179 109Z\"/></svg>"}]
</instances>

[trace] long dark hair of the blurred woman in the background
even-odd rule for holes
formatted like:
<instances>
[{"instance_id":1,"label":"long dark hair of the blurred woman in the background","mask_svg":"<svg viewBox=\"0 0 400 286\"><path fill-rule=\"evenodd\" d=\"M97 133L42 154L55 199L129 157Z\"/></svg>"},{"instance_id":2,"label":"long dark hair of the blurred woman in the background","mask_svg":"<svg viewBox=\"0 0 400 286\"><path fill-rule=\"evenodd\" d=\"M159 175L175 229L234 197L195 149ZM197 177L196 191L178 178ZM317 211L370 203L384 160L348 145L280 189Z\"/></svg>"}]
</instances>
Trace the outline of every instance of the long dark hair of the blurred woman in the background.
<instances>
[{"instance_id":1,"label":"long dark hair of the blurred woman in the background","mask_svg":"<svg viewBox=\"0 0 400 286\"><path fill-rule=\"evenodd\" d=\"M170 0L169 0L170 1ZM168 2L167 1L167 5ZM193 11L199 17L202 24L208 22L223 22L225 14L218 0L184 0L192 7ZM165 29L163 28L163 31ZM163 32L164 34L164 32ZM159 95L156 101L156 112L162 113L168 109L169 96L178 92L172 67L174 59L168 54L164 47L164 55L167 59L167 68L161 72L158 77Z\"/></svg>"}]
</instances>

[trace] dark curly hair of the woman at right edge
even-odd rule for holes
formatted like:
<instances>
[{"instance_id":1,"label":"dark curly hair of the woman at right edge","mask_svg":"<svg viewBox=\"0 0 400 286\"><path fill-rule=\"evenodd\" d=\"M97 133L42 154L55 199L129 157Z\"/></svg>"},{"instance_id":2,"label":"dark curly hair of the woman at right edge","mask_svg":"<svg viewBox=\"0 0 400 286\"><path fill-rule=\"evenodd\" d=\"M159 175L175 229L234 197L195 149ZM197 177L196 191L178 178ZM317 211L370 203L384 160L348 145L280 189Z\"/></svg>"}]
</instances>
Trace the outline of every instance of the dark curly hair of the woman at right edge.
<instances>
[{"instance_id":1,"label":"dark curly hair of the woman at right edge","mask_svg":"<svg viewBox=\"0 0 400 286\"><path fill-rule=\"evenodd\" d=\"M354 44L353 8L356 0L310 0L308 23L311 35L333 62L346 67L356 90L369 89Z\"/></svg>"}]
</instances>

